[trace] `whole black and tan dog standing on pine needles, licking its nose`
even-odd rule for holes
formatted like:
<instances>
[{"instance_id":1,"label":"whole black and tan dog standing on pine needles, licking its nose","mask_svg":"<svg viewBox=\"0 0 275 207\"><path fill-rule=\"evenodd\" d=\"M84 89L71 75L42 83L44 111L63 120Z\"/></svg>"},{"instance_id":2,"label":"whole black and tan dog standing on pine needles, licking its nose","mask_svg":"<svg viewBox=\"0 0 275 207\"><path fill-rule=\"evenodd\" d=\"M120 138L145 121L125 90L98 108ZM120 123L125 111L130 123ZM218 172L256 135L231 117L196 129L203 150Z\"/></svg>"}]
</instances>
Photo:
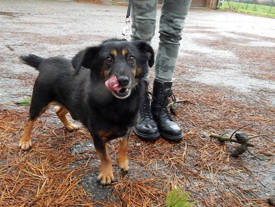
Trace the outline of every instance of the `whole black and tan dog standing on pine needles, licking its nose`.
<instances>
[{"instance_id":1,"label":"whole black and tan dog standing on pine needles, licking its nose","mask_svg":"<svg viewBox=\"0 0 275 207\"><path fill-rule=\"evenodd\" d=\"M152 47L143 41L112 39L80 51L71 61L36 55L20 56L19 61L39 71L20 148L31 147L31 131L37 118L49 106L59 105L57 115L66 129L78 129L68 120L67 113L89 129L101 161L101 184L114 179L106 148L109 140L120 138L117 164L128 171L128 139L145 90L141 79L147 75L148 65L154 64Z\"/></svg>"}]
</instances>

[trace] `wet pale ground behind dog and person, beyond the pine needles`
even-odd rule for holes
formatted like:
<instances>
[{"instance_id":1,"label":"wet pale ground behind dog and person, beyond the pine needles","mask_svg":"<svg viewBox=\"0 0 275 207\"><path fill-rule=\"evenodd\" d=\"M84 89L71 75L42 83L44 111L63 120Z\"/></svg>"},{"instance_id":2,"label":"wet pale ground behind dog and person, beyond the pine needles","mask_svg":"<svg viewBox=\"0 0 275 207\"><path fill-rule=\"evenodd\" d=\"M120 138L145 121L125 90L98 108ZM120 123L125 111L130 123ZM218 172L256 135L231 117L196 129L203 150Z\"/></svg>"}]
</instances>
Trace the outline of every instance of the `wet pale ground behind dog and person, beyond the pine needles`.
<instances>
[{"instance_id":1,"label":"wet pale ground behind dog and person, beyond the pine needles","mask_svg":"<svg viewBox=\"0 0 275 207\"><path fill-rule=\"evenodd\" d=\"M31 94L20 80L37 73L15 64L16 54L72 57L85 46L122 37L125 10L73 1L2 1L0 102ZM157 41L155 35L154 49ZM179 79L243 93L260 91L274 105L274 53L275 19L191 9L179 54L179 68L185 70Z\"/></svg>"}]
</instances>

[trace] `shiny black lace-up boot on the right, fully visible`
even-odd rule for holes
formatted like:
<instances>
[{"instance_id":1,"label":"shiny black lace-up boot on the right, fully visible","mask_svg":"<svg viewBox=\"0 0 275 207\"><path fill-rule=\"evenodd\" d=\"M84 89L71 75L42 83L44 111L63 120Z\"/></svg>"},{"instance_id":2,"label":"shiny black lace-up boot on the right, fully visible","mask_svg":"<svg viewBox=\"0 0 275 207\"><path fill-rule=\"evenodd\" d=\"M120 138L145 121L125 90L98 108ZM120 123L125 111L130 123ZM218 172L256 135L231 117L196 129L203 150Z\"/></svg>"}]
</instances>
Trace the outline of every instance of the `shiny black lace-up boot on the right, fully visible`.
<instances>
[{"instance_id":1,"label":"shiny black lace-up boot on the right, fully visible","mask_svg":"<svg viewBox=\"0 0 275 207\"><path fill-rule=\"evenodd\" d=\"M161 83L154 80L151 110L160 135L168 141L178 142L182 140L183 132L166 108L172 94L171 87L172 82Z\"/></svg>"}]
</instances>

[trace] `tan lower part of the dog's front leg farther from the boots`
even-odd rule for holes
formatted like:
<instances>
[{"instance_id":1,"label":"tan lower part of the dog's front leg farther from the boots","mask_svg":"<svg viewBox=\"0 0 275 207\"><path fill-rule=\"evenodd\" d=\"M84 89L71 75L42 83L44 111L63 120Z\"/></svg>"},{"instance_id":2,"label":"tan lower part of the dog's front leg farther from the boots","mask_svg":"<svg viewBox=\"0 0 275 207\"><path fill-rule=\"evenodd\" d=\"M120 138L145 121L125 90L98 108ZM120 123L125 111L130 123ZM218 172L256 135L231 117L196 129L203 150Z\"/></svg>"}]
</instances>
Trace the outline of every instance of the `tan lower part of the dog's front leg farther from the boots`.
<instances>
[{"instance_id":1,"label":"tan lower part of the dog's front leg farther from the boots","mask_svg":"<svg viewBox=\"0 0 275 207\"><path fill-rule=\"evenodd\" d=\"M102 185L111 184L112 180L115 179L113 174L111 158L108 155L106 143L104 144L104 147L104 152L100 152L96 149L96 153L100 159L100 173L97 176L97 180L100 180L100 183Z\"/></svg>"}]
</instances>

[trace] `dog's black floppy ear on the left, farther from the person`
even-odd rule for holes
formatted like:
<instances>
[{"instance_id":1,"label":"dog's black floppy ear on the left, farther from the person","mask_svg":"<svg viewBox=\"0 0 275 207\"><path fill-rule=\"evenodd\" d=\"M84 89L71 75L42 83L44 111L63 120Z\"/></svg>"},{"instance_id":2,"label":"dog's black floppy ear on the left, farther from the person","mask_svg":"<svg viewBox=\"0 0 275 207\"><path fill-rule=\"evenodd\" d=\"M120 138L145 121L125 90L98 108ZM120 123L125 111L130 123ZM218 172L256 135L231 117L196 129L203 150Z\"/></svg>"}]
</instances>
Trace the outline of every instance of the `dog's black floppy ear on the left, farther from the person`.
<instances>
[{"instance_id":1,"label":"dog's black floppy ear on the left, farther from the person","mask_svg":"<svg viewBox=\"0 0 275 207\"><path fill-rule=\"evenodd\" d=\"M98 47L87 47L86 49L78 52L71 61L72 66L76 71L75 73L79 71L81 66L84 68L90 68L97 51Z\"/></svg>"}]
</instances>

